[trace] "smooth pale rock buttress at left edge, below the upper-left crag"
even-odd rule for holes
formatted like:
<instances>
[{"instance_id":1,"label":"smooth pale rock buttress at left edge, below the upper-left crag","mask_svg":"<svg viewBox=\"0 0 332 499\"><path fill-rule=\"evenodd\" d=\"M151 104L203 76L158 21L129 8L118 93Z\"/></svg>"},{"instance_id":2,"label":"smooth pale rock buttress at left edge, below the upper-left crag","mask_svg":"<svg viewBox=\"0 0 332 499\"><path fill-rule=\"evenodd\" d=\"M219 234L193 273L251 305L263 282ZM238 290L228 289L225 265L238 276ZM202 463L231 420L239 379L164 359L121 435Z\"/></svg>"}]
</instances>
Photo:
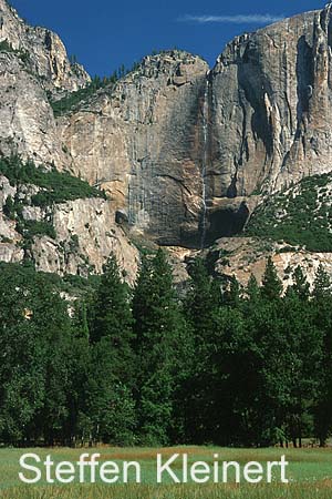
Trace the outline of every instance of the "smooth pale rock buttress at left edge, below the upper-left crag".
<instances>
[{"instance_id":1,"label":"smooth pale rock buttress at left edge, below the upper-left crag","mask_svg":"<svg viewBox=\"0 0 332 499\"><path fill-rule=\"evenodd\" d=\"M66 156L45 92L14 54L0 52L0 153L65 167Z\"/></svg>"}]
</instances>

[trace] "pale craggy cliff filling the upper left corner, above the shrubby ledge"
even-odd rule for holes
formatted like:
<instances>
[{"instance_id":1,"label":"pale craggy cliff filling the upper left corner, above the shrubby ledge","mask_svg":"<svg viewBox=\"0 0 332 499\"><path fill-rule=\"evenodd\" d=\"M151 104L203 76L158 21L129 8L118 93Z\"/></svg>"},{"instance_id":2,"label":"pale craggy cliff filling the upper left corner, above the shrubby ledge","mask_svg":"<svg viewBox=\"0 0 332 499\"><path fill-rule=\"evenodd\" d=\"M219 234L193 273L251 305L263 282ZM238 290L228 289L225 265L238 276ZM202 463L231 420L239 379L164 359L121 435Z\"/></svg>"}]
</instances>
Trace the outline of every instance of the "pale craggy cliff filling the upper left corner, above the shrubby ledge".
<instances>
[{"instance_id":1,"label":"pale craggy cliff filling the upper left corner, above the shrubby ledge","mask_svg":"<svg viewBox=\"0 0 332 499\"><path fill-rule=\"evenodd\" d=\"M0 155L20 154L65 169L48 95L86 85L89 74L70 63L55 33L29 27L6 0L0 0Z\"/></svg>"}]
</instances>

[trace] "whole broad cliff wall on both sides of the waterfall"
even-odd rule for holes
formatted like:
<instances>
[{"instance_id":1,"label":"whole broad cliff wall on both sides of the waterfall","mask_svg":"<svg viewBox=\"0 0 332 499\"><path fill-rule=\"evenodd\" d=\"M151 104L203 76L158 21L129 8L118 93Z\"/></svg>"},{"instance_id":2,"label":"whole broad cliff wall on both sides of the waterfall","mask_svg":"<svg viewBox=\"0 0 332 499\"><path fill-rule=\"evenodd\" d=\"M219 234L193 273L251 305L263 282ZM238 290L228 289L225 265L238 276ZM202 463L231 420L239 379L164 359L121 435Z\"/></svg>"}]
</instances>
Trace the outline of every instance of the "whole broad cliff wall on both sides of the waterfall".
<instances>
[{"instance_id":1,"label":"whole broad cliff wall on both sides of the waterfall","mask_svg":"<svg viewBox=\"0 0 332 499\"><path fill-rule=\"evenodd\" d=\"M74 171L162 244L239 232L252 194L331 171L331 19L328 6L243 34L208 75L188 54L146 58L62 119Z\"/></svg>"}]
</instances>

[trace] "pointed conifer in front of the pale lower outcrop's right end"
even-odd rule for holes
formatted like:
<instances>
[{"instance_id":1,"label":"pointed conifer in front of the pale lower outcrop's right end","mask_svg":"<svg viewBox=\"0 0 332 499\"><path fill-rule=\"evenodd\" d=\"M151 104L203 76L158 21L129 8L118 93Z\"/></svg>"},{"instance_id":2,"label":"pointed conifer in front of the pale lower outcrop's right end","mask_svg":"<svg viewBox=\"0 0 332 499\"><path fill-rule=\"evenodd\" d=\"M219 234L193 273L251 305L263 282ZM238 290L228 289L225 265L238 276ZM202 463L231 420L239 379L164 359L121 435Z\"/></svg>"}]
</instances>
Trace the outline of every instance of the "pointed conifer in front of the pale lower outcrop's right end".
<instances>
[{"instance_id":1,"label":"pointed conifer in front of the pale lower outcrop's right end","mask_svg":"<svg viewBox=\"0 0 332 499\"><path fill-rule=\"evenodd\" d=\"M94 441L131 440L135 356L129 289L114 255L103 267L90 309L91 368L86 383L86 427Z\"/></svg>"}]
</instances>

